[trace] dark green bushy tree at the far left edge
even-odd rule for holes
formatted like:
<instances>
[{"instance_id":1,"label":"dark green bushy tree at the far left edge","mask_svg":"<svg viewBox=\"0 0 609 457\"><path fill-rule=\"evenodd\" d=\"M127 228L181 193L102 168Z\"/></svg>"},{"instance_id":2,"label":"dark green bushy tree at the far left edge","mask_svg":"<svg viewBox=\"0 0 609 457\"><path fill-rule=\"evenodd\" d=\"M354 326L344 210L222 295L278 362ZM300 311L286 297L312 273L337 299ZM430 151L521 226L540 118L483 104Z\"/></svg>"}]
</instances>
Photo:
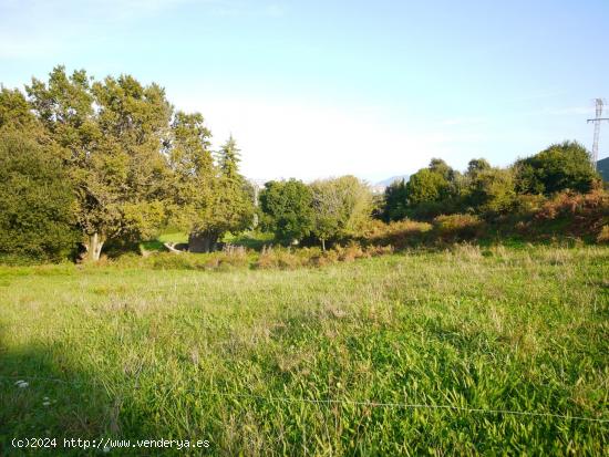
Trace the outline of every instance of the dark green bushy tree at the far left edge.
<instances>
[{"instance_id":1,"label":"dark green bushy tree at the far left edge","mask_svg":"<svg viewBox=\"0 0 609 457\"><path fill-rule=\"evenodd\" d=\"M0 255L68 257L74 199L59 159L27 133L0 128Z\"/></svg>"}]
</instances>

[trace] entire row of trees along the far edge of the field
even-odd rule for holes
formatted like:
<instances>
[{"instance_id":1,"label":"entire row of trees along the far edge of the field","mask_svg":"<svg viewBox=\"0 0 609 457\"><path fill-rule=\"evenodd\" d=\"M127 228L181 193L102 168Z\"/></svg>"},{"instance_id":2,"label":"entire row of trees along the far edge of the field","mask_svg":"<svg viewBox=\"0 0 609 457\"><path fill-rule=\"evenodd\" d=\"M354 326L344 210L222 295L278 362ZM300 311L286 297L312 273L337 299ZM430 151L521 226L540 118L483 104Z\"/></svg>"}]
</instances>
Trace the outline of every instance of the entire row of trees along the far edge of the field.
<instances>
[{"instance_id":1,"label":"entire row of trees along the far edge of the field","mask_svg":"<svg viewBox=\"0 0 609 457\"><path fill-rule=\"evenodd\" d=\"M175 110L157 84L95 81L56 66L24 93L0 89L0 253L97 260L107 242L183 230L190 251L258 224L285 245L357 237L371 220L504 214L523 195L599 186L585 147L551 145L507 168L483 158L460 173L442 159L390 185L382 198L353 177L266 183L240 174L229 137L218 150L200 113Z\"/></svg>"}]
</instances>

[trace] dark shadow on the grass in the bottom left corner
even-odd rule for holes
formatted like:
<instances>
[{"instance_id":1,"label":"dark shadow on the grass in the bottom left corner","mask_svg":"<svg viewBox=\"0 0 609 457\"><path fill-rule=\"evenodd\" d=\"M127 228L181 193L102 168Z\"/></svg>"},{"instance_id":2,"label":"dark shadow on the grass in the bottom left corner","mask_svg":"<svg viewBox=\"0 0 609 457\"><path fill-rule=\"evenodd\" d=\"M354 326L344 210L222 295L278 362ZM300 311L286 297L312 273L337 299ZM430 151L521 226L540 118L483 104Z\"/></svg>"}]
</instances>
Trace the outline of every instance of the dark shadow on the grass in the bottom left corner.
<instances>
[{"instance_id":1,"label":"dark shadow on the grass in the bottom left corner","mask_svg":"<svg viewBox=\"0 0 609 457\"><path fill-rule=\"evenodd\" d=\"M200 439L158 426L165 412L148 403L164 391L155 384L138 388L137 371L101 372L74 360L79 352L68 342L11 347L6 335L0 326L0 456L174 456L185 450L133 446L142 439ZM23 447L33 438L40 438L33 442L37 447ZM72 442L79 438L83 446ZM126 439L132 447L116 444ZM104 450L107 440L111 449Z\"/></svg>"}]
</instances>

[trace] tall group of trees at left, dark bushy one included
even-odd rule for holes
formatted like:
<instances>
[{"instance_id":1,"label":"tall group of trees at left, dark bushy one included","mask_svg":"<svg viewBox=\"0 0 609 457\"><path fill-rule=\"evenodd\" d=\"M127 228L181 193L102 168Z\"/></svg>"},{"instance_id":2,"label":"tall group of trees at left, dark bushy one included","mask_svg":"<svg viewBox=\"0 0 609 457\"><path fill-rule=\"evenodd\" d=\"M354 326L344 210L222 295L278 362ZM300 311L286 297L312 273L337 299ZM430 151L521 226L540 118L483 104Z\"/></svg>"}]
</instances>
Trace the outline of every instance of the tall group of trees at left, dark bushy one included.
<instances>
[{"instance_id":1,"label":"tall group of trees at left, dark bushy one included","mask_svg":"<svg viewBox=\"0 0 609 457\"><path fill-rule=\"evenodd\" d=\"M210 149L200 113L175 111L157 84L94 81L58 66L25 94L0 90L0 252L60 259L75 246L187 231L196 250L249 227L252 188L233 137Z\"/></svg>"}]
</instances>

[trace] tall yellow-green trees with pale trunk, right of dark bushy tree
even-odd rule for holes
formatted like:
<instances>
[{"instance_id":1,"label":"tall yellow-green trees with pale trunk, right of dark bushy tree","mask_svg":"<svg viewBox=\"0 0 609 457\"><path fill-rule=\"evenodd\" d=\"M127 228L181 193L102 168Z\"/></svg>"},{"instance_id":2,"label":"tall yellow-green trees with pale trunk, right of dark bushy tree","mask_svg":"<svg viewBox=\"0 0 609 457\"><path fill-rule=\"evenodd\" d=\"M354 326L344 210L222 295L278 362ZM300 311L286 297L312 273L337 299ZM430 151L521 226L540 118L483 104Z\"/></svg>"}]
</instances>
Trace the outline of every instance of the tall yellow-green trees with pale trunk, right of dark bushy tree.
<instances>
[{"instance_id":1,"label":"tall yellow-green trees with pale trunk, right of dark bushy tree","mask_svg":"<svg viewBox=\"0 0 609 457\"><path fill-rule=\"evenodd\" d=\"M35 117L19 92L3 91L0 121L10 114L31 124L30 115L59 146L93 260L106 240L147 239L166 224L205 237L209 247L251 225L252 190L238 173L235 141L214 163L203 116L174 115L157 84L130 75L92 82L84 70L69 75L58 66L27 91Z\"/></svg>"}]
</instances>

